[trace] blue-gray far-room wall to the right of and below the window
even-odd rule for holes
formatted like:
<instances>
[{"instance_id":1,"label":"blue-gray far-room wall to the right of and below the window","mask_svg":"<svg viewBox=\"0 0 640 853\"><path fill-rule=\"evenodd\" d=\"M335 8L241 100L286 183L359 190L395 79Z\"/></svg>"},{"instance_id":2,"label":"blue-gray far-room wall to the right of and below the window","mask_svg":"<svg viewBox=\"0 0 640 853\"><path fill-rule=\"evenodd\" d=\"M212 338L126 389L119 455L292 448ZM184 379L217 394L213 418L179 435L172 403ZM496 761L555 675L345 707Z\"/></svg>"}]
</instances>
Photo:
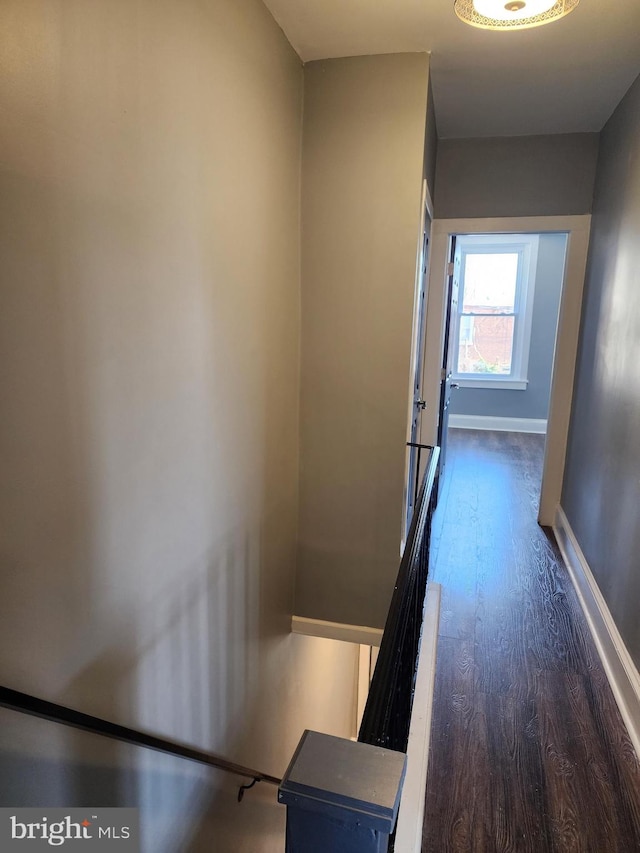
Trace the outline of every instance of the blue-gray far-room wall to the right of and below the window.
<instances>
[{"instance_id":1,"label":"blue-gray far-room wall to the right of and below the window","mask_svg":"<svg viewBox=\"0 0 640 853\"><path fill-rule=\"evenodd\" d=\"M564 234L540 235L526 391L460 388L451 396L452 414L547 417L566 244Z\"/></svg>"}]
</instances>

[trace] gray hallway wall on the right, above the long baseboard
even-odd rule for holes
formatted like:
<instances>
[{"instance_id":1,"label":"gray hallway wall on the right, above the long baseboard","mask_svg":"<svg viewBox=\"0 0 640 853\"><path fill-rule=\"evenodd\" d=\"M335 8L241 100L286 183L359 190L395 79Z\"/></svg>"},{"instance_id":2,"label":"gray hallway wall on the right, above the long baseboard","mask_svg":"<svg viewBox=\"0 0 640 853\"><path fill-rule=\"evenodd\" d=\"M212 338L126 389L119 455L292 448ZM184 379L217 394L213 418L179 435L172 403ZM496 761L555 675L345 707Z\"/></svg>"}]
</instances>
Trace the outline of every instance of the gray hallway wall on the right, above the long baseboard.
<instances>
[{"instance_id":1,"label":"gray hallway wall on the right, above the long baseboard","mask_svg":"<svg viewBox=\"0 0 640 853\"><path fill-rule=\"evenodd\" d=\"M640 78L606 124L562 504L640 666Z\"/></svg>"}]
</instances>

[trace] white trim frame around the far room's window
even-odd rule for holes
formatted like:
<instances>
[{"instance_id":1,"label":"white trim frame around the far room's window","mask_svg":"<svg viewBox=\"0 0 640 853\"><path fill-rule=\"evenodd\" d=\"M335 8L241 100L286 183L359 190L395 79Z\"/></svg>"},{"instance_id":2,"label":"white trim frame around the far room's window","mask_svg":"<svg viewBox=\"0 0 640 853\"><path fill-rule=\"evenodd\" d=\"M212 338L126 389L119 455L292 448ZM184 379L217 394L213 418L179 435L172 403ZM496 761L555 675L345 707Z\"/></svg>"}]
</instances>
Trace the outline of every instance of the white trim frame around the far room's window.
<instances>
[{"instance_id":1,"label":"white trim frame around the far room's window","mask_svg":"<svg viewBox=\"0 0 640 853\"><path fill-rule=\"evenodd\" d=\"M516 286L515 327L513 337L512 370L508 375L458 373L453 379L461 388L491 388L504 391L526 391L528 387L529 351L531 347L531 326L533 323L533 300L535 293L536 269L538 265L537 234L481 234L460 235L457 238L456 251L461 252L460 296L458 301L458 322L456 339L452 342L458 349L460 317L464 295L464 257L466 254L496 254L498 252L517 252L518 282Z\"/></svg>"}]
</instances>

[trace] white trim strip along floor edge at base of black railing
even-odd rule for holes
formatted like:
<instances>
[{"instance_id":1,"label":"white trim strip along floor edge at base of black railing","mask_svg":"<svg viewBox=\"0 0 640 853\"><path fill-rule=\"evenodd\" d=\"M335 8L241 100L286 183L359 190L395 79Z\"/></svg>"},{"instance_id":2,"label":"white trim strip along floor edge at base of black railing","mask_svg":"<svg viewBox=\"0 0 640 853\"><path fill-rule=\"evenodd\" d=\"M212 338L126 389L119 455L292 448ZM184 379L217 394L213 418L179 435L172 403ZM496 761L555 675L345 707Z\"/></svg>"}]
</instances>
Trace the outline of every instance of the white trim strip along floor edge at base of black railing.
<instances>
[{"instance_id":1,"label":"white trim strip along floor edge at base of black railing","mask_svg":"<svg viewBox=\"0 0 640 853\"><path fill-rule=\"evenodd\" d=\"M431 713L436 677L440 595L440 584L429 581L424 602L416 688L407 744L407 770L398 812L394 848L396 853L420 853L422 850L424 792L427 787Z\"/></svg>"}]
</instances>

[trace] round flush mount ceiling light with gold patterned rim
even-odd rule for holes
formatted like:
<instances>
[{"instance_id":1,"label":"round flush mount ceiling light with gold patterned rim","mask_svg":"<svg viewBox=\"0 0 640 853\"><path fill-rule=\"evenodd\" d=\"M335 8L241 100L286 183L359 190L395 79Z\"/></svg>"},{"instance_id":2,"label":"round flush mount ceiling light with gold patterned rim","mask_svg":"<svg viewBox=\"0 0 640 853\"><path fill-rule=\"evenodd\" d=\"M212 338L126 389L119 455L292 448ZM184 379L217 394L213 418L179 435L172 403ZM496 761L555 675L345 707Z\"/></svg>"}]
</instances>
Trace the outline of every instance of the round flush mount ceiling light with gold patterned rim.
<instances>
[{"instance_id":1,"label":"round flush mount ceiling light with gold patterned rim","mask_svg":"<svg viewBox=\"0 0 640 853\"><path fill-rule=\"evenodd\" d=\"M580 0L454 0L456 15L483 30L524 30L564 18Z\"/></svg>"}]
</instances>

